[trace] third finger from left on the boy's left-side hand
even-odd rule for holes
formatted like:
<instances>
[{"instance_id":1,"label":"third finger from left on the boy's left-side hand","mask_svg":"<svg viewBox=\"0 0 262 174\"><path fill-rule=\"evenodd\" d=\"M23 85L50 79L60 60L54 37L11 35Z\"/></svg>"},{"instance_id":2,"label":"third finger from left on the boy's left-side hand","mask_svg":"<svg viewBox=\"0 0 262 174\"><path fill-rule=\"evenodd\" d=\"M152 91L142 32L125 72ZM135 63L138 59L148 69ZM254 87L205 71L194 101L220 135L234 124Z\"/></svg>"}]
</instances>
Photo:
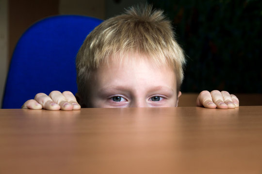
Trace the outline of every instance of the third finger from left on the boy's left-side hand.
<instances>
[{"instance_id":1,"label":"third finger from left on the boy's left-side hand","mask_svg":"<svg viewBox=\"0 0 262 174\"><path fill-rule=\"evenodd\" d=\"M52 99L52 101L60 105L61 110L73 110L73 105L67 102L66 97L60 91L50 92L49 97Z\"/></svg>"}]
</instances>

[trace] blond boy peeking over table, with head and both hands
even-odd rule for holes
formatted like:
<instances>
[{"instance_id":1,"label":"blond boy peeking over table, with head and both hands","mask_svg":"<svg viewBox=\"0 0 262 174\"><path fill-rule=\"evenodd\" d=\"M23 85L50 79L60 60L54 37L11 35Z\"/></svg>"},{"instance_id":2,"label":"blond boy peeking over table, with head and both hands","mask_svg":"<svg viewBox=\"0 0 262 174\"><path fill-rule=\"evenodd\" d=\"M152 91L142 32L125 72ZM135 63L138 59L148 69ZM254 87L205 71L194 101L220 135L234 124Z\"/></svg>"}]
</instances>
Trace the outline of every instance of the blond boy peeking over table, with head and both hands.
<instances>
[{"instance_id":1,"label":"blond boy peeking over table, with head and both hands","mask_svg":"<svg viewBox=\"0 0 262 174\"><path fill-rule=\"evenodd\" d=\"M184 64L183 51L163 12L151 6L131 7L86 37L76 58L76 98L69 91L39 93L22 108L176 107ZM197 106L235 108L239 101L226 91L202 91Z\"/></svg>"}]
</instances>

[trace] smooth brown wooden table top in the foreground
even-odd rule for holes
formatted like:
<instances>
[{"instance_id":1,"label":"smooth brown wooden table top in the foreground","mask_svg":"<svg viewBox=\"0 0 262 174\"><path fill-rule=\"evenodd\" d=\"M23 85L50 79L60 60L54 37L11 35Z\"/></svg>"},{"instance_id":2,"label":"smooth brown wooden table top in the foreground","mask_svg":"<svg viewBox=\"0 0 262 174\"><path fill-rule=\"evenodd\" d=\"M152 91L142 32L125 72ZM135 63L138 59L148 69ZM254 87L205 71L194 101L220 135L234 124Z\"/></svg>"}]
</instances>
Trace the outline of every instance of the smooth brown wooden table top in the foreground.
<instances>
[{"instance_id":1,"label":"smooth brown wooden table top in the foreground","mask_svg":"<svg viewBox=\"0 0 262 174\"><path fill-rule=\"evenodd\" d=\"M2 109L0 174L262 174L262 106Z\"/></svg>"}]
</instances>

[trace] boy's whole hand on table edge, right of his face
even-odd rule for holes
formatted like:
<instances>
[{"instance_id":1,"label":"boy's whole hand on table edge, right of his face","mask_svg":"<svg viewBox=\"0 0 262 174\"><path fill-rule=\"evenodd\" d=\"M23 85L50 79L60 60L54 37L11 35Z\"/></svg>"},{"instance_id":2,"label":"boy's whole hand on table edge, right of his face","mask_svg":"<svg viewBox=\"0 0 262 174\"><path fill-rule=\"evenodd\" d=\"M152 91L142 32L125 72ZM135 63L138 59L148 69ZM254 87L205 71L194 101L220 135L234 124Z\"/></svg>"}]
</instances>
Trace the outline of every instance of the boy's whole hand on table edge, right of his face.
<instances>
[{"instance_id":1,"label":"boy's whole hand on table edge, right of his face","mask_svg":"<svg viewBox=\"0 0 262 174\"><path fill-rule=\"evenodd\" d=\"M237 108L239 107L239 100L227 91L213 90L209 92L205 90L197 97L197 106L220 109Z\"/></svg>"}]
</instances>

